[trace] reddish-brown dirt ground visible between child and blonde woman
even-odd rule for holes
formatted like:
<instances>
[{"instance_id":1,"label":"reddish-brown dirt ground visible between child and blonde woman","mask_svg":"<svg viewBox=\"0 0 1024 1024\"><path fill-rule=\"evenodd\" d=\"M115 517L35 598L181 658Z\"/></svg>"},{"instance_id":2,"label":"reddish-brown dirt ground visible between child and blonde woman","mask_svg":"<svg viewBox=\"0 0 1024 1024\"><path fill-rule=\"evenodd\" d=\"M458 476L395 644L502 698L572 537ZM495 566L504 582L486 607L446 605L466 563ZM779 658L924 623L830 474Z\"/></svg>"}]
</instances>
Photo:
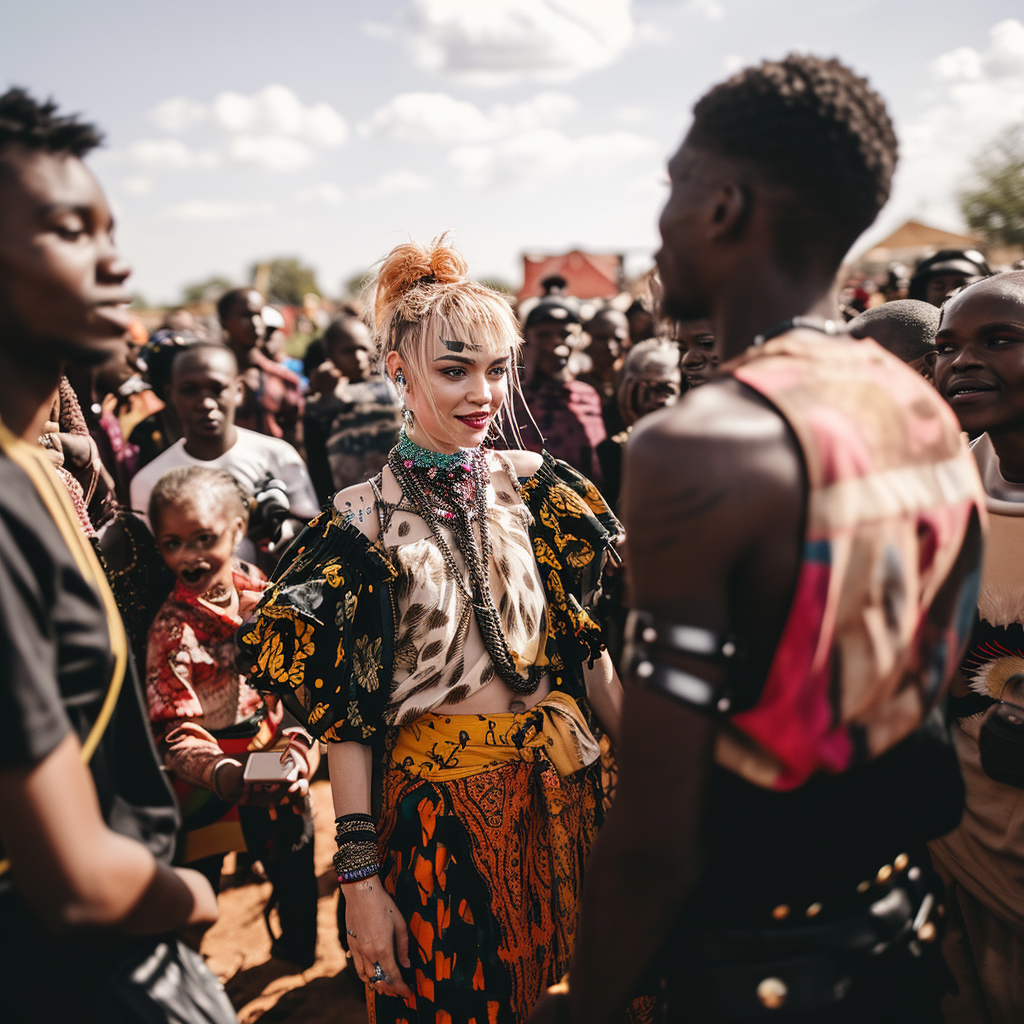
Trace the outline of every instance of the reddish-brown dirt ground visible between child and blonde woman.
<instances>
[{"instance_id":1,"label":"reddish-brown dirt ground visible between child and blonde woman","mask_svg":"<svg viewBox=\"0 0 1024 1024\"><path fill-rule=\"evenodd\" d=\"M270 937L263 924L269 883L244 885L220 894L220 920L206 933L202 951L224 982L242 1024L366 1024L367 1007L356 992L356 979L345 966L335 919L338 883L334 854L334 811L331 785L313 782L316 808L314 856L319 885L316 963L301 974L295 965L270 955ZM230 868L230 863L225 865ZM358 991L361 992L361 985Z\"/></svg>"}]
</instances>

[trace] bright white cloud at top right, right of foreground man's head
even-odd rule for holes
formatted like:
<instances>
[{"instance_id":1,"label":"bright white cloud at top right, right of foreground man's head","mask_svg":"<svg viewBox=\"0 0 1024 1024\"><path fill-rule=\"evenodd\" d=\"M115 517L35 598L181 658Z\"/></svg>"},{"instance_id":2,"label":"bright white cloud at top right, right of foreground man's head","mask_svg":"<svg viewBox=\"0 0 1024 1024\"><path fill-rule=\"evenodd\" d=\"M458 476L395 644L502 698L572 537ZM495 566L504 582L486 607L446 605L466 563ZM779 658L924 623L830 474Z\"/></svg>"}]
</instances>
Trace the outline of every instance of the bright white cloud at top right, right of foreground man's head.
<instances>
[{"instance_id":1,"label":"bright white cloud at top right, right of foreground man's head","mask_svg":"<svg viewBox=\"0 0 1024 1024\"><path fill-rule=\"evenodd\" d=\"M959 226L955 197L970 178L972 160L1000 131L1024 120L1024 25L999 22L984 50L962 46L932 61L930 70L927 110L899 129L897 186L883 222L890 228L894 218L911 215Z\"/></svg>"}]
</instances>

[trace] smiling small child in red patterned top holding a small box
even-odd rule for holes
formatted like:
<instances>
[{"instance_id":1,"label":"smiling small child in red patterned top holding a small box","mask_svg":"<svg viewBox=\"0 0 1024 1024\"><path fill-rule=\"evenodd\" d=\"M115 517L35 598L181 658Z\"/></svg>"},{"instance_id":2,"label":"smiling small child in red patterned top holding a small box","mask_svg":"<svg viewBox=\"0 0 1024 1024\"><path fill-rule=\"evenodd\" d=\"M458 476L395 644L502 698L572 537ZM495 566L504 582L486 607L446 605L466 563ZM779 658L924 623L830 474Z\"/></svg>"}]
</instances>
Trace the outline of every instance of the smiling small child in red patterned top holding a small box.
<instances>
[{"instance_id":1,"label":"smiling small child in red patterned top holding a small box","mask_svg":"<svg viewBox=\"0 0 1024 1024\"><path fill-rule=\"evenodd\" d=\"M225 853L248 849L260 859L281 918L273 953L305 967L314 958L316 881L303 808L319 755L236 668L236 630L266 586L233 558L247 520L239 484L223 470L181 467L154 486L150 522L177 582L150 628L146 700L181 807L178 860L216 891ZM270 749L294 758L298 779L287 787L246 783L250 754Z\"/></svg>"}]
</instances>

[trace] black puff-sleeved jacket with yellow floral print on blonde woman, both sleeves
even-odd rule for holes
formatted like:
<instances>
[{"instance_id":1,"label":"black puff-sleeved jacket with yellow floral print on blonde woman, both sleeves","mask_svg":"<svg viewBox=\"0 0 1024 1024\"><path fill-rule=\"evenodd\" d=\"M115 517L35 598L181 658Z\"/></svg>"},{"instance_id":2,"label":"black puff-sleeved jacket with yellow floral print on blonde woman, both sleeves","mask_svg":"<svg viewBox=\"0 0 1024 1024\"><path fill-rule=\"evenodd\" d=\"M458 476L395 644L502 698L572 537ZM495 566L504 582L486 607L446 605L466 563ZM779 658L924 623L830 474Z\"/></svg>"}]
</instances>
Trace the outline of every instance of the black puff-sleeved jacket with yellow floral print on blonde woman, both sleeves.
<instances>
[{"instance_id":1,"label":"black puff-sleeved jacket with yellow floral print on blonde woman, both sleeves","mask_svg":"<svg viewBox=\"0 0 1024 1024\"><path fill-rule=\"evenodd\" d=\"M521 484L547 591L552 683L583 696L584 662L601 650L601 630L587 606L622 527L594 484L547 453ZM333 506L309 523L294 550L239 631L240 671L280 696L313 736L373 744L392 724L385 708L397 573L380 543L371 544Z\"/></svg>"}]
</instances>

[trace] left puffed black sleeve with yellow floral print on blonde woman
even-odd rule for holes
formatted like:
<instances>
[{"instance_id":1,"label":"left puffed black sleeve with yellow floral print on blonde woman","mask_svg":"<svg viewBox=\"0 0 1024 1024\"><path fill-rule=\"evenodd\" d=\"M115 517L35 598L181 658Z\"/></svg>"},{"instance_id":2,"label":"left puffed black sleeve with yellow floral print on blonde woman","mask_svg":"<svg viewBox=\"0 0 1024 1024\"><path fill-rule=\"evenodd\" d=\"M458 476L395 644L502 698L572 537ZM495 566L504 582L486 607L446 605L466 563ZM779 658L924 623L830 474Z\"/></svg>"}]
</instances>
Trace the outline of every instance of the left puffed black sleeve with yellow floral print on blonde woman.
<instances>
[{"instance_id":1,"label":"left puffed black sleeve with yellow floral print on blonde woman","mask_svg":"<svg viewBox=\"0 0 1024 1024\"><path fill-rule=\"evenodd\" d=\"M330 508L293 550L239 631L239 669L314 737L372 743L391 685L395 570Z\"/></svg>"}]
</instances>

